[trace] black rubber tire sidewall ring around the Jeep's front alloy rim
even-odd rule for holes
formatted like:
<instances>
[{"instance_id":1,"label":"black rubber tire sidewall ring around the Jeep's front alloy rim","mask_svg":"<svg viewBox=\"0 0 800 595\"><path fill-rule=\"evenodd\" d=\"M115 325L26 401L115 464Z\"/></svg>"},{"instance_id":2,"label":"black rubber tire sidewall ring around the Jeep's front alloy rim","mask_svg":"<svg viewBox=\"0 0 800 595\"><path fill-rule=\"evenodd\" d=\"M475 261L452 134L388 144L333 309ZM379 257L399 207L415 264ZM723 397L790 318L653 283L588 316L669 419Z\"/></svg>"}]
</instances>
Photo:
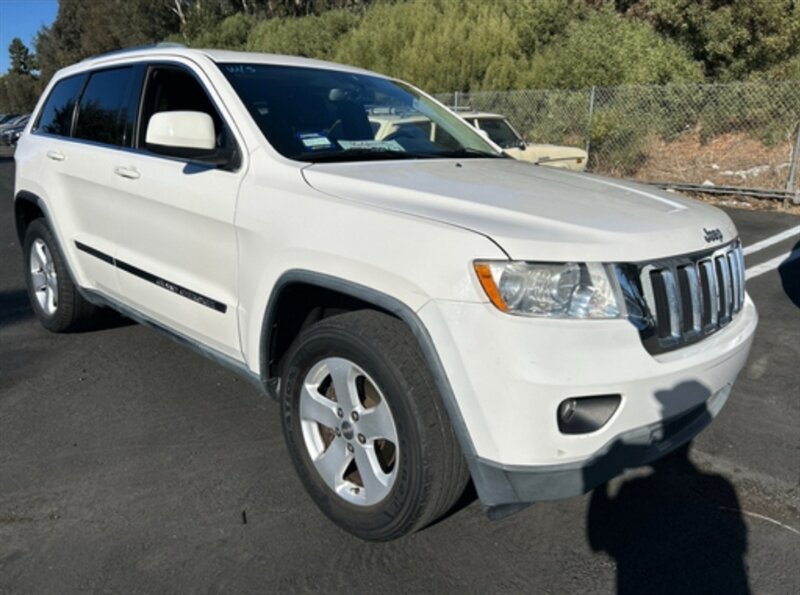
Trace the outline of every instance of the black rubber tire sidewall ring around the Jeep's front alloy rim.
<instances>
[{"instance_id":1,"label":"black rubber tire sidewall ring around the Jeep's front alloy rim","mask_svg":"<svg viewBox=\"0 0 800 595\"><path fill-rule=\"evenodd\" d=\"M322 480L308 454L300 427L300 389L309 370L322 359L341 357L358 365L375 382L386 399L398 436L398 468L389 494L373 506L358 506L342 499ZM319 508L335 523L366 539L388 539L384 534L413 523L424 460L415 422L413 402L405 398L408 387L402 374L368 339L346 329L311 328L298 337L287 353L281 391L282 426L292 460L304 487Z\"/></svg>"}]
</instances>

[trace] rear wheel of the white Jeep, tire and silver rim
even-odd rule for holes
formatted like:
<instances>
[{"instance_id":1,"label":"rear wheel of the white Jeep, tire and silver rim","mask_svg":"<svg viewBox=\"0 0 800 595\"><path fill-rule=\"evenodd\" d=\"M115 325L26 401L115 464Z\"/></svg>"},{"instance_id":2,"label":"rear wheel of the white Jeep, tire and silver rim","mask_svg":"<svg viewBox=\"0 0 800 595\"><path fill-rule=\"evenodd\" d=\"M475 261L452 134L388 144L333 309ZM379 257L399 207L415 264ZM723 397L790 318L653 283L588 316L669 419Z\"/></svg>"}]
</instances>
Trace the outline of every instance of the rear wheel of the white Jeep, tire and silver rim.
<instances>
[{"instance_id":1,"label":"rear wheel of the white Jeep, tire and silver rim","mask_svg":"<svg viewBox=\"0 0 800 595\"><path fill-rule=\"evenodd\" d=\"M83 328L96 308L78 292L44 219L31 222L23 242L25 282L36 318L55 333Z\"/></svg>"}]
</instances>

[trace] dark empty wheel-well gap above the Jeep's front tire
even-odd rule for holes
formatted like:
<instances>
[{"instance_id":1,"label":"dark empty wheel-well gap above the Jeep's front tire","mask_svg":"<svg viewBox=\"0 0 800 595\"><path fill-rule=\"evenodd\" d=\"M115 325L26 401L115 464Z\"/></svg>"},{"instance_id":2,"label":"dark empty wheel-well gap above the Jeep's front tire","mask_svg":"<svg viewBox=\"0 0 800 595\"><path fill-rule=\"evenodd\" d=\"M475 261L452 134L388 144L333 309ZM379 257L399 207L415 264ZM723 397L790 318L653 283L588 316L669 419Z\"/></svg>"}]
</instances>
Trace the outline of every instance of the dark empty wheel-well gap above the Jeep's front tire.
<instances>
[{"instance_id":1,"label":"dark empty wheel-well gap above the Jeep's front tire","mask_svg":"<svg viewBox=\"0 0 800 595\"><path fill-rule=\"evenodd\" d=\"M281 288L270 304L262 337L264 378L280 376L280 365L294 339L308 326L356 310L375 310L395 316L379 305L348 293L307 282Z\"/></svg>"}]
</instances>

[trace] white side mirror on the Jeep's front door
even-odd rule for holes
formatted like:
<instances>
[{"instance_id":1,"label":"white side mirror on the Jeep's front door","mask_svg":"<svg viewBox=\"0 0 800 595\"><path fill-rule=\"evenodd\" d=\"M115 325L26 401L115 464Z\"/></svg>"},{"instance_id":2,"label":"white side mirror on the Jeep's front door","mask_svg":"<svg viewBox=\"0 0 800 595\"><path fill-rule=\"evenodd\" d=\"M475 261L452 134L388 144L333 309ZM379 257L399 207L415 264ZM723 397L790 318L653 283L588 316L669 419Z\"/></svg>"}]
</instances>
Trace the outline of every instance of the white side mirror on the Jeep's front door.
<instances>
[{"instance_id":1,"label":"white side mirror on the Jeep's front door","mask_svg":"<svg viewBox=\"0 0 800 595\"><path fill-rule=\"evenodd\" d=\"M176 157L199 157L217 144L214 121L206 113L159 112L147 123L145 142L154 151Z\"/></svg>"}]
</instances>

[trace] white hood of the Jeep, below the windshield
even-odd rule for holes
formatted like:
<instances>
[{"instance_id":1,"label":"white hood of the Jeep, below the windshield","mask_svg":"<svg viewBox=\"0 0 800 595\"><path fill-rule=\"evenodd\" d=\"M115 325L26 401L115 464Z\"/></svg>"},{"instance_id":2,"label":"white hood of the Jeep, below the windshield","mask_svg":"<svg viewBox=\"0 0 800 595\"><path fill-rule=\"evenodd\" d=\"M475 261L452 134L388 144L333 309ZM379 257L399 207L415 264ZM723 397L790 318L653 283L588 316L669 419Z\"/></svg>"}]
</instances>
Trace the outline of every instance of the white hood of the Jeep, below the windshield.
<instances>
[{"instance_id":1,"label":"white hood of the Jeep, below the windshield","mask_svg":"<svg viewBox=\"0 0 800 595\"><path fill-rule=\"evenodd\" d=\"M489 236L514 259L633 262L707 250L722 211L649 186L512 159L313 164L325 194ZM707 243L703 229L719 229Z\"/></svg>"}]
</instances>

